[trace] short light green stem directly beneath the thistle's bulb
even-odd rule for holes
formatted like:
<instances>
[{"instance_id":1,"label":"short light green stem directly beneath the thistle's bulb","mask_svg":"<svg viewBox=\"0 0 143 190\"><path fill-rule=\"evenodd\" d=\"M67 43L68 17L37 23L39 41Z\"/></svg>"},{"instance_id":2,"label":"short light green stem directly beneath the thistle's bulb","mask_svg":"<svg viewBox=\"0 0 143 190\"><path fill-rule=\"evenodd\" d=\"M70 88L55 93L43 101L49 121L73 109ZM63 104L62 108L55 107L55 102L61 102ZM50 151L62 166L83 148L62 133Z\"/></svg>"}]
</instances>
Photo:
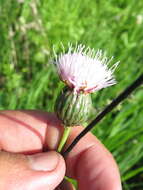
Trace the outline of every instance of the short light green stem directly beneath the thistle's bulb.
<instances>
[{"instance_id":1,"label":"short light green stem directly beneath the thistle's bulb","mask_svg":"<svg viewBox=\"0 0 143 190\"><path fill-rule=\"evenodd\" d=\"M68 136L70 134L70 130L71 130L71 127L64 127L64 133L63 133L63 136L62 136L62 138L60 140L60 144L58 146L58 152L62 151L62 149L63 149L63 147L64 147L64 145L65 145L65 143L67 141L67 138L68 138Z\"/></svg>"}]
</instances>

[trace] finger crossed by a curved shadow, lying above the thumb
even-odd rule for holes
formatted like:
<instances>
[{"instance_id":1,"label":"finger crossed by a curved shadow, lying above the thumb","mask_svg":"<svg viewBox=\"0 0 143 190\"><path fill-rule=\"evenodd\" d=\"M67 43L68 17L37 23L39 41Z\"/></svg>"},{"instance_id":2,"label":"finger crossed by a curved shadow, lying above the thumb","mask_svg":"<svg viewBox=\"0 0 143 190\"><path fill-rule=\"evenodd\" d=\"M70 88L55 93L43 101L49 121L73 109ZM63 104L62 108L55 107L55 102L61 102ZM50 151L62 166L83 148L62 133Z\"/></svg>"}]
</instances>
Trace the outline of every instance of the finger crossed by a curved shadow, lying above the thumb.
<instances>
[{"instance_id":1,"label":"finger crossed by a curved shadow, lying above the thumb","mask_svg":"<svg viewBox=\"0 0 143 190\"><path fill-rule=\"evenodd\" d=\"M0 111L0 150L32 154L56 149L63 128L44 111Z\"/></svg>"}]
</instances>

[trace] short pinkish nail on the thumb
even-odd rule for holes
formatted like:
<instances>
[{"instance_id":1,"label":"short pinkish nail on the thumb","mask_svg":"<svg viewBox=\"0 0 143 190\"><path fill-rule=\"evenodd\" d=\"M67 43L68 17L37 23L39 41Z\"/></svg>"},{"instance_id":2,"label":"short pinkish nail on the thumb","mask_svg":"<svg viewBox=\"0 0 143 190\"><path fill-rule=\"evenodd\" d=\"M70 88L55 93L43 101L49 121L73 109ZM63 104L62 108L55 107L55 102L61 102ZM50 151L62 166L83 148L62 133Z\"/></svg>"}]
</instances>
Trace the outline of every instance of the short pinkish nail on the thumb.
<instances>
[{"instance_id":1,"label":"short pinkish nail on the thumb","mask_svg":"<svg viewBox=\"0 0 143 190\"><path fill-rule=\"evenodd\" d=\"M35 171L54 170L58 165L59 158L59 154L54 151L28 156L30 168Z\"/></svg>"}]
</instances>

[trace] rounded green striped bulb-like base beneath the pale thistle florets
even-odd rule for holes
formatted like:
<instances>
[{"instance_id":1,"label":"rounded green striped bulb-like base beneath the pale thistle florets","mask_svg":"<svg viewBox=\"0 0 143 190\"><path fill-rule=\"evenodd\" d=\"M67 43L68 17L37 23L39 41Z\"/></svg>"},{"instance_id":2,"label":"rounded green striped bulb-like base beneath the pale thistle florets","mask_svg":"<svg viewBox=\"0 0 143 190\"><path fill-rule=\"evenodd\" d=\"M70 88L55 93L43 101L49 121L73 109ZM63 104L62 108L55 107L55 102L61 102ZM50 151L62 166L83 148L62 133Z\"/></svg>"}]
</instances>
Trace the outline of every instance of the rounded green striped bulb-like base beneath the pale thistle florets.
<instances>
[{"instance_id":1,"label":"rounded green striped bulb-like base beneath the pale thistle florets","mask_svg":"<svg viewBox=\"0 0 143 190\"><path fill-rule=\"evenodd\" d=\"M89 93L76 93L65 87L57 98L55 112L66 127L82 125L87 121L92 108Z\"/></svg>"}]
</instances>

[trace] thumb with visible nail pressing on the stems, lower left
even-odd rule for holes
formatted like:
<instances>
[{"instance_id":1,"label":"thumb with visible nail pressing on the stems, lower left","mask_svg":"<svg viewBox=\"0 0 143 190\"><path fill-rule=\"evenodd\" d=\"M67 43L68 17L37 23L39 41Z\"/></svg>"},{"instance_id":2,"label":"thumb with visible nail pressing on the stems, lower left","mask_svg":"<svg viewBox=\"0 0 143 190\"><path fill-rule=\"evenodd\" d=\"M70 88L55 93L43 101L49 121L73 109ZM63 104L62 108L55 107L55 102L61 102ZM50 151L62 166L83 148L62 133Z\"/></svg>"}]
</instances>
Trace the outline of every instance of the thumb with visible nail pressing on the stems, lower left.
<instances>
[{"instance_id":1,"label":"thumb with visible nail pressing on the stems, lower left","mask_svg":"<svg viewBox=\"0 0 143 190\"><path fill-rule=\"evenodd\" d=\"M64 175L65 162L57 152L31 156L0 152L0 189L53 190Z\"/></svg>"}]
</instances>

